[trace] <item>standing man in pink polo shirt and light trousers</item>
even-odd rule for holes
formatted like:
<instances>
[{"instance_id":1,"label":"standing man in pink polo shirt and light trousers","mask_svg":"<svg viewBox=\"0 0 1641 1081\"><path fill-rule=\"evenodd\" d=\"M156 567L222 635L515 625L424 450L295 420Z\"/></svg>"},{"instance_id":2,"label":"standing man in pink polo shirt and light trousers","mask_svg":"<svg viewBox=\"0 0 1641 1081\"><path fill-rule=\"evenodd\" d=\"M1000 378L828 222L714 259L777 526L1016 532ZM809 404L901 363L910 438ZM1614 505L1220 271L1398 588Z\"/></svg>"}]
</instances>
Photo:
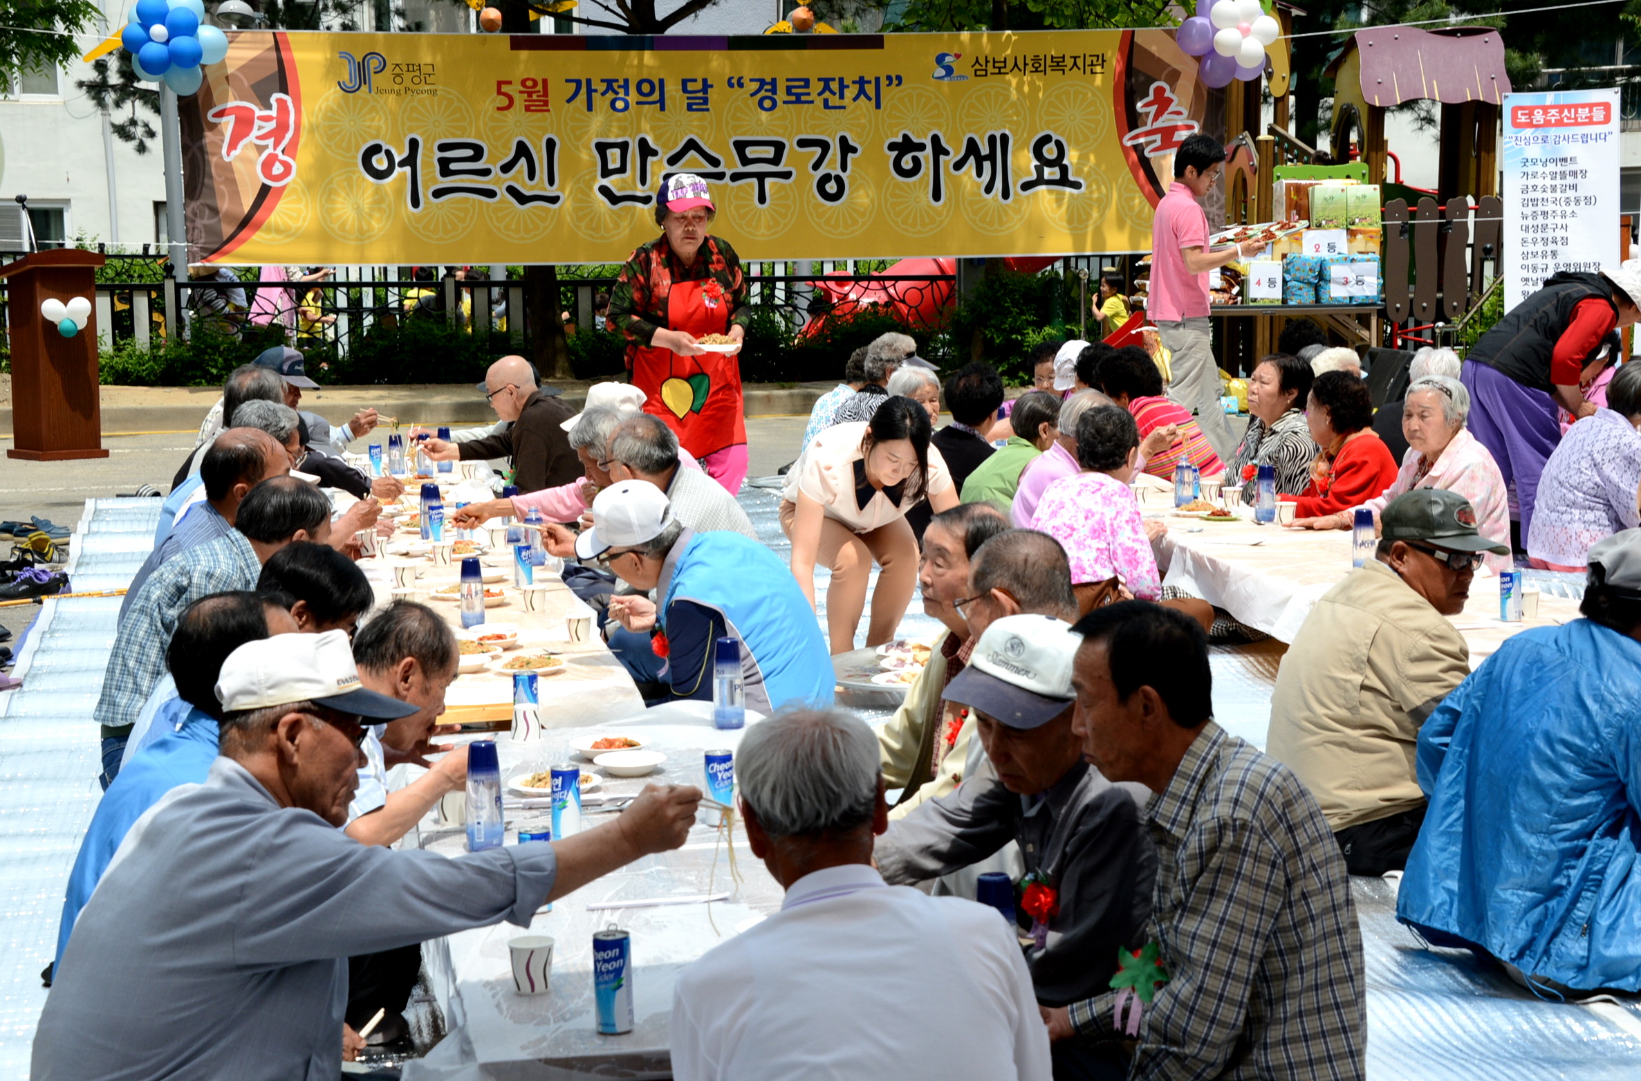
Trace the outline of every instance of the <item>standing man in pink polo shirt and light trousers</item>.
<instances>
[{"instance_id":1,"label":"standing man in pink polo shirt and light trousers","mask_svg":"<svg viewBox=\"0 0 1641 1081\"><path fill-rule=\"evenodd\" d=\"M1226 149L1193 135L1173 154L1173 184L1157 203L1150 225L1150 295L1145 307L1162 344L1173 354L1168 397L1196 412L1196 423L1221 459L1229 461L1237 436L1219 407L1219 364L1209 349L1208 271L1254 256L1262 244L1209 251L1208 215L1198 198L1219 182Z\"/></svg>"}]
</instances>

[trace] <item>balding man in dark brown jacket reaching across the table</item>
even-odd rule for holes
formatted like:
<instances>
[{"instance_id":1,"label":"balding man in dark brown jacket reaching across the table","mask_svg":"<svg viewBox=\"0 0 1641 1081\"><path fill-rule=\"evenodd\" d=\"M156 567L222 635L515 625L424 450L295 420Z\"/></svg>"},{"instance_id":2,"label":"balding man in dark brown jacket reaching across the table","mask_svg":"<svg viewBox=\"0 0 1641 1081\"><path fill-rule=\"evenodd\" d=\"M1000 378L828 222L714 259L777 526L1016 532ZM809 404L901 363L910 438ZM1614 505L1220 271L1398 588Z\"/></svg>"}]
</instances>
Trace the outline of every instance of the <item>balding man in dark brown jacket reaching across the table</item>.
<instances>
[{"instance_id":1,"label":"balding man in dark brown jacket reaching across the table","mask_svg":"<svg viewBox=\"0 0 1641 1081\"><path fill-rule=\"evenodd\" d=\"M504 433L466 443L428 440L423 446L435 461L484 461L507 456L514 466L519 494L571 484L581 477L581 459L569 446L563 422L571 410L558 390L537 387L530 363L504 356L491 364L481 385L496 415L512 423Z\"/></svg>"}]
</instances>

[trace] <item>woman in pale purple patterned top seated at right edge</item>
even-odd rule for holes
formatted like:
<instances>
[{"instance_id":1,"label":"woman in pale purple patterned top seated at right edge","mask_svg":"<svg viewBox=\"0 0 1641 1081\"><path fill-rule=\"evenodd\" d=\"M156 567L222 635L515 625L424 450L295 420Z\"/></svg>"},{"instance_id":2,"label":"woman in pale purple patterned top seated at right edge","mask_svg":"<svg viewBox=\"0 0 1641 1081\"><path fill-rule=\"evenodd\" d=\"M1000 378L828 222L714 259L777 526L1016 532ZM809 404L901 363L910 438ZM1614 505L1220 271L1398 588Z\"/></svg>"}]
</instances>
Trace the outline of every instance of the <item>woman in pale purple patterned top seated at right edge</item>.
<instances>
[{"instance_id":1,"label":"woman in pale purple patterned top seated at right edge","mask_svg":"<svg viewBox=\"0 0 1641 1081\"><path fill-rule=\"evenodd\" d=\"M1641 364L1630 363L1607 385L1607 408L1572 425L1544 463L1526 538L1533 566L1582 574L1595 541L1638 525L1638 425Z\"/></svg>"}]
</instances>

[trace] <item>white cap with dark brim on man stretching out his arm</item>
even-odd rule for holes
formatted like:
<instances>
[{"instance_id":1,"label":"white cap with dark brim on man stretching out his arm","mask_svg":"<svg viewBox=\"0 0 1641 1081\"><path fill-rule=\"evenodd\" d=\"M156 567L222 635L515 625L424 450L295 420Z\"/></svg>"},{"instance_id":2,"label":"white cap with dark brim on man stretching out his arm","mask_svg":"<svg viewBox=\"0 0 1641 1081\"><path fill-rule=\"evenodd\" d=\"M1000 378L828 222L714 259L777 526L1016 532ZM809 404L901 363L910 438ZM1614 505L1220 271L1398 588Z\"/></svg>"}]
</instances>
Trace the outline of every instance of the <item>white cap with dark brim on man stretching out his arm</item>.
<instances>
[{"instance_id":1,"label":"white cap with dark brim on man stretching out his arm","mask_svg":"<svg viewBox=\"0 0 1641 1081\"><path fill-rule=\"evenodd\" d=\"M397 720L418 705L366 691L346 632L274 635L248 641L222 663L217 700L225 714L290 702L318 702L338 714Z\"/></svg>"}]
</instances>

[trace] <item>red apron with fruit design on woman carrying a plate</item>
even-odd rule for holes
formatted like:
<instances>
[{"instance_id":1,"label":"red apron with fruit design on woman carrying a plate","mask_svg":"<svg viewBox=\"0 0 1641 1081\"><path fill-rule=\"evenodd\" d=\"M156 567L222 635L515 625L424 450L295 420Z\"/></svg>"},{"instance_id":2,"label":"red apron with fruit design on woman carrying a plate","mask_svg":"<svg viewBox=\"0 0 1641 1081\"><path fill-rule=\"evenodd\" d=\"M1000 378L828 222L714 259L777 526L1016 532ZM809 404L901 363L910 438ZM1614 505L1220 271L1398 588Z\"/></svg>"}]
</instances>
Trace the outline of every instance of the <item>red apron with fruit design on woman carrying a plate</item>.
<instances>
[{"instance_id":1,"label":"red apron with fruit design on woman carrying a plate","mask_svg":"<svg viewBox=\"0 0 1641 1081\"><path fill-rule=\"evenodd\" d=\"M694 338L722 335L729 330L729 297L715 279L673 282L668 289L668 330ZM647 395L643 412L665 420L696 458L747 441L737 354L678 356L671 349L643 346L633 353L632 384Z\"/></svg>"}]
</instances>

